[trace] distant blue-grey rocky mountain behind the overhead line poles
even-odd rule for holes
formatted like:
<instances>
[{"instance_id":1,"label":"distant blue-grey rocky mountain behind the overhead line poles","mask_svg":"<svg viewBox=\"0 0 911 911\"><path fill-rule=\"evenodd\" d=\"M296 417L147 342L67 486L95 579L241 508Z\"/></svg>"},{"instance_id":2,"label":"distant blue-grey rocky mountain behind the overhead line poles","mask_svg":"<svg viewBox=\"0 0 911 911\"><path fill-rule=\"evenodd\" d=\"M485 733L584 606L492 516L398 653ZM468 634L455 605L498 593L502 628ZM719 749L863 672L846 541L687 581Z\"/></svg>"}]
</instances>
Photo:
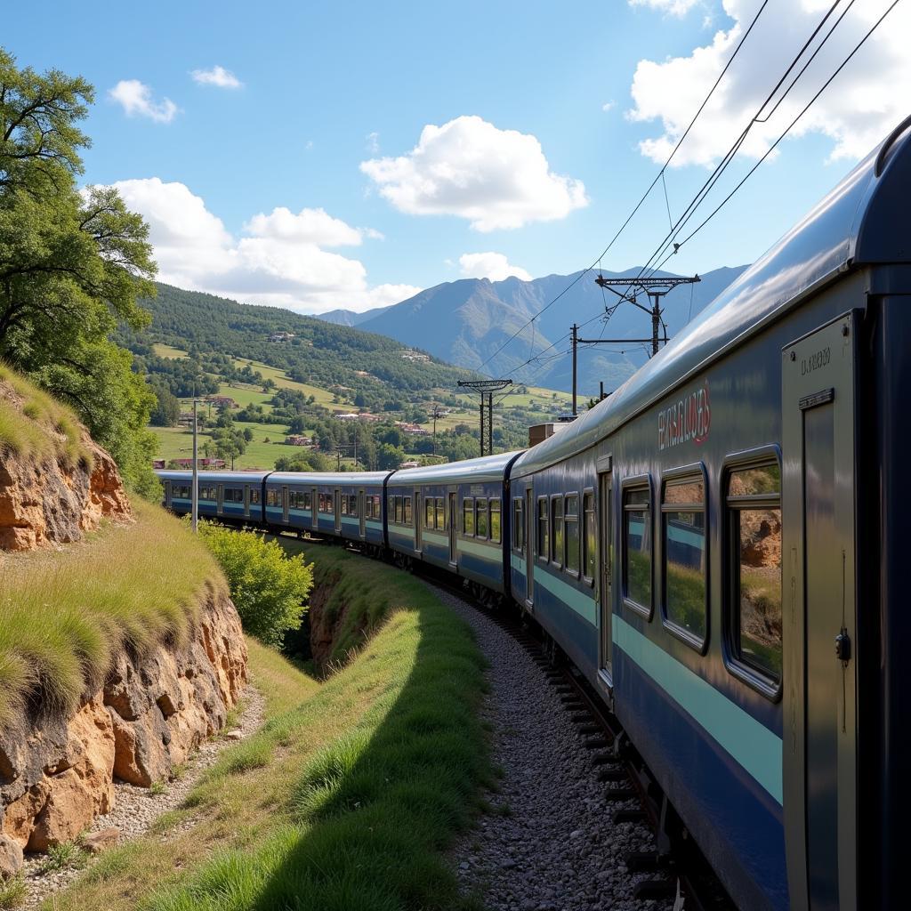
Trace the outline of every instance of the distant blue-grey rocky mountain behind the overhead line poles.
<instances>
[{"instance_id":1,"label":"distant blue-grey rocky mountain behind the overhead line poles","mask_svg":"<svg viewBox=\"0 0 911 911\"><path fill-rule=\"evenodd\" d=\"M670 335L689 322L691 316L700 312L745 268L716 269L702 275L698 283L671 291L663 299ZM639 272L635 268L603 274L606 278L629 278ZM655 274L660 278L672 275ZM571 358L552 356L568 350L568 341L560 341L562 336L568 334L572 322L581 326L619 300L616 294L602 290L594 279L593 272L548 275L533 281L461 279L428 288L383 310L353 315L358 317L358 328L365 332L387 335L448 363L472 370L483 366L485 373L494 376L510 376L524 383L568 390L572 383ZM575 283L532 326L526 326L570 282ZM639 302L650 305L641 292ZM519 330L518 337L509 341ZM606 324L601 320L589 322L579 332L581 338L633 339L648 338L650 334L648 314L629 302L621 304ZM505 349L497 353L505 343ZM557 344L548 348L551 343ZM580 346L580 392L593 394L600 381L608 390L615 388L645 363L649 347L639 343ZM523 366L535 354L542 356ZM492 359L485 364L488 358Z\"/></svg>"}]
</instances>

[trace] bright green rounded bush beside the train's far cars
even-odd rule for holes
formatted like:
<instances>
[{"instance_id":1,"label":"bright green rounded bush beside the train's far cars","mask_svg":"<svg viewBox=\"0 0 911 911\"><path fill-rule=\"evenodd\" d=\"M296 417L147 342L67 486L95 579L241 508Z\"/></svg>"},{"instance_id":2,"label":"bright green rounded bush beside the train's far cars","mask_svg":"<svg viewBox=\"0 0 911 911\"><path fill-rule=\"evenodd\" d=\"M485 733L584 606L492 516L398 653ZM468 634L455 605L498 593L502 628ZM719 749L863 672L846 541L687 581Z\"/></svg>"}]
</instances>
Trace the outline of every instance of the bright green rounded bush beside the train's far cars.
<instances>
[{"instance_id":1,"label":"bright green rounded bush beside the train's far cars","mask_svg":"<svg viewBox=\"0 0 911 911\"><path fill-rule=\"evenodd\" d=\"M279 544L252 531L200 522L200 537L221 564L244 630L281 646L286 630L301 625L313 585L312 565L289 557Z\"/></svg>"}]
</instances>

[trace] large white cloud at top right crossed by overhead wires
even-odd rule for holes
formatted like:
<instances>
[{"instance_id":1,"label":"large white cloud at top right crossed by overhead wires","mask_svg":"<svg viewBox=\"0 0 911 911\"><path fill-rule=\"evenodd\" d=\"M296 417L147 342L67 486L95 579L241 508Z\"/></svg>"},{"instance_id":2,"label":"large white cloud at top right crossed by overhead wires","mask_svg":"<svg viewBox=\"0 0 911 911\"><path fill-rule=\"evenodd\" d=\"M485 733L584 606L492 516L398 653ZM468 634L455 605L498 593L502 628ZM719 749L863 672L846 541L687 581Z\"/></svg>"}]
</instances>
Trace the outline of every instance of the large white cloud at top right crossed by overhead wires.
<instances>
[{"instance_id":1,"label":"large white cloud at top right crossed by overhead wires","mask_svg":"<svg viewBox=\"0 0 911 911\"><path fill-rule=\"evenodd\" d=\"M888 2L872 0L851 8L773 116L753 126L742 146L743 155L763 155L885 12ZM640 143L642 154L653 161L663 163L667 159L752 21L759 0L723 0L722 5L733 25L716 32L711 44L694 48L690 56L661 62L640 60L636 67L631 88L634 107L627 116L633 121L660 121L660 135ZM714 164L731 147L812 34L827 6L819 0L797 0L793 4L769 5L763 11L675 156L675 166ZM820 37L834 21L833 16ZM909 34L911 7L899 5L789 135L819 133L832 138L833 159L865 155L907 113L911 93L911 56L906 41Z\"/></svg>"}]
</instances>

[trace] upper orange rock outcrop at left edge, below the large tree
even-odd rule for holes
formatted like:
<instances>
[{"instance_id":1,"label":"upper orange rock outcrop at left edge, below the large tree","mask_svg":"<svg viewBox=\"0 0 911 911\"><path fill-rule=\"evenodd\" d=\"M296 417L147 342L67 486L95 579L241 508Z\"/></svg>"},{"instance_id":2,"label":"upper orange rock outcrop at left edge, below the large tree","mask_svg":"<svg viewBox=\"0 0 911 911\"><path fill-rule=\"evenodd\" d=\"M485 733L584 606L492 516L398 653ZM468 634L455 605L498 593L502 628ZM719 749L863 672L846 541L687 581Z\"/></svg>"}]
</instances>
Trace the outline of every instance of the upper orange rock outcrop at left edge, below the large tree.
<instances>
[{"instance_id":1,"label":"upper orange rock outcrop at left edge, below the large tree","mask_svg":"<svg viewBox=\"0 0 911 911\"><path fill-rule=\"evenodd\" d=\"M64 431L37 424L28 404L9 382L0 379L0 398L20 412L24 423L57 437ZM129 501L117 465L95 444L85 427L74 425L82 457L70 464L56 455L15 455L0 451L0 550L29 550L48 543L77 541L103 517L127 520Z\"/></svg>"}]
</instances>

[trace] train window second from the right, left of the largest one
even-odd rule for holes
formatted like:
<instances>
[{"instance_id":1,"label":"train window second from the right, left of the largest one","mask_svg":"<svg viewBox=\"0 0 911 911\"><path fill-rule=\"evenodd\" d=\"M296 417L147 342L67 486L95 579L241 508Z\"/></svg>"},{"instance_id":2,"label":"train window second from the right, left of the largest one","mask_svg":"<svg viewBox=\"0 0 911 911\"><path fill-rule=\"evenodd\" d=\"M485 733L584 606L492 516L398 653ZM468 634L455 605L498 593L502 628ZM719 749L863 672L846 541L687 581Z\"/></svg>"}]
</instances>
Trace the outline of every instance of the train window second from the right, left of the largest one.
<instances>
[{"instance_id":1,"label":"train window second from the right, left of the largest one","mask_svg":"<svg viewBox=\"0 0 911 911\"><path fill-rule=\"evenodd\" d=\"M708 627L705 481L702 475L664 485L661 503L664 618L682 639L701 648Z\"/></svg>"}]
</instances>

